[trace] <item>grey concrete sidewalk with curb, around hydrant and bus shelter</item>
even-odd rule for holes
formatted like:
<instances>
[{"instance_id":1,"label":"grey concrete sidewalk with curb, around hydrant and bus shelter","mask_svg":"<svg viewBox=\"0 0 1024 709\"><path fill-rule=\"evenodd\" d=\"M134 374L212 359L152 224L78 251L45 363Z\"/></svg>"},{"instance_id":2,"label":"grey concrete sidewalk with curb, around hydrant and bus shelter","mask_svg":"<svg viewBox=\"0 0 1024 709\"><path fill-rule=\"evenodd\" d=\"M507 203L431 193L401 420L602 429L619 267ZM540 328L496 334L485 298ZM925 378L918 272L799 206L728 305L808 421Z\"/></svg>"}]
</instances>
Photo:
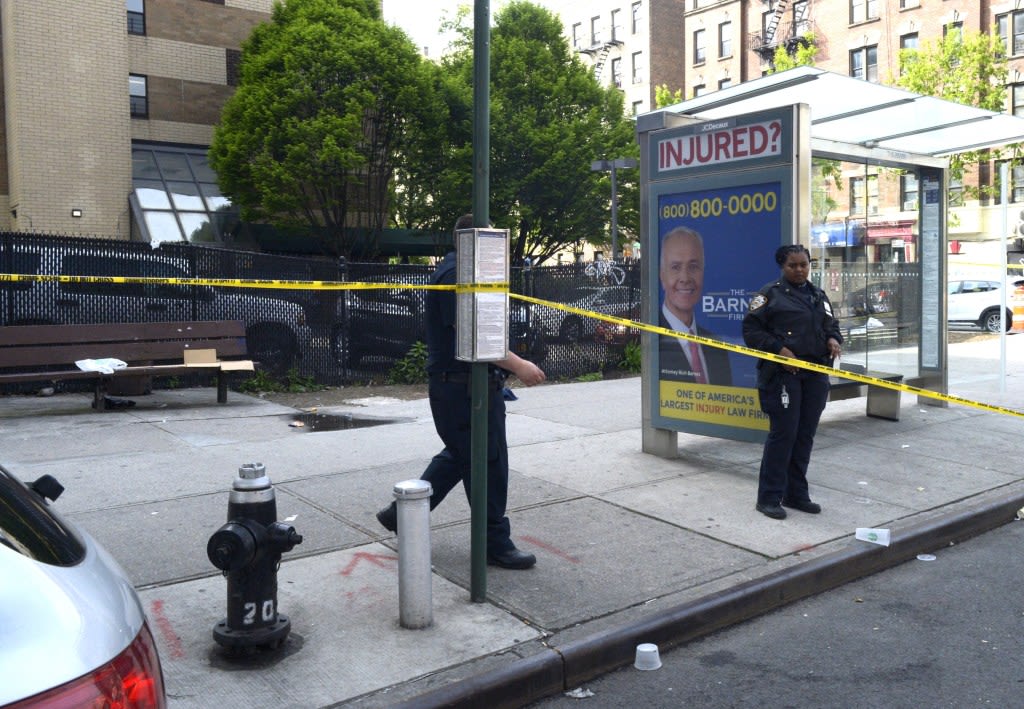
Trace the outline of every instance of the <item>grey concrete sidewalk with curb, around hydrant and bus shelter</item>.
<instances>
[{"instance_id":1,"label":"grey concrete sidewalk with curb, around hydrant and bus shelter","mask_svg":"<svg viewBox=\"0 0 1024 709\"><path fill-rule=\"evenodd\" d=\"M1022 377L999 390L978 371L965 368L955 393L1024 410ZM374 517L439 448L426 401L352 401L319 413L388 422L314 432L290 425L294 409L233 392L218 406L209 389L104 414L86 395L5 398L0 464L65 485L57 509L141 591L171 706L218 709L520 706L630 662L638 642L666 649L1024 506L1014 416L904 394L891 422L866 418L862 399L834 403L810 472L824 511L776 522L754 510L759 445L680 434L679 459L640 452L638 378L518 393L510 517L538 566L490 568L488 602L471 602L469 506L454 494L432 516L427 630L398 626L396 539ZM256 461L304 541L279 574L285 648L242 663L211 636L226 584L206 543L239 465ZM889 528L893 544L856 541L857 527Z\"/></svg>"}]
</instances>

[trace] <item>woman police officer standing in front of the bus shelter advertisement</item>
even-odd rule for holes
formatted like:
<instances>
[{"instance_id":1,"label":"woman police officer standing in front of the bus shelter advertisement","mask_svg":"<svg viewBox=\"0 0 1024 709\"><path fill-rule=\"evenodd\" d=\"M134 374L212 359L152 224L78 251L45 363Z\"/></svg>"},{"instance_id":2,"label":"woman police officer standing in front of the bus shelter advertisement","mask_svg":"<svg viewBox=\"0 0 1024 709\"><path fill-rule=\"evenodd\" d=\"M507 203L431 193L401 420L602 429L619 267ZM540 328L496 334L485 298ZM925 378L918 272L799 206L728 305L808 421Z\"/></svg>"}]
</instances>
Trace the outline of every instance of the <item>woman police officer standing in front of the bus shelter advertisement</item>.
<instances>
[{"instance_id":1,"label":"woman police officer standing in front of the bus shelter advertisement","mask_svg":"<svg viewBox=\"0 0 1024 709\"><path fill-rule=\"evenodd\" d=\"M746 345L782 357L831 365L840 356L843 335L831 303L808 282L810 253L799 244L775 251L782 278L767 284L751 301L743 318ZM783 507L816 514L811 502L807 464L814 432L828 399L828 375L758 360L761 410L770 429L761 456L757 510L784 519Z\"/></svg>"}]
</instances>

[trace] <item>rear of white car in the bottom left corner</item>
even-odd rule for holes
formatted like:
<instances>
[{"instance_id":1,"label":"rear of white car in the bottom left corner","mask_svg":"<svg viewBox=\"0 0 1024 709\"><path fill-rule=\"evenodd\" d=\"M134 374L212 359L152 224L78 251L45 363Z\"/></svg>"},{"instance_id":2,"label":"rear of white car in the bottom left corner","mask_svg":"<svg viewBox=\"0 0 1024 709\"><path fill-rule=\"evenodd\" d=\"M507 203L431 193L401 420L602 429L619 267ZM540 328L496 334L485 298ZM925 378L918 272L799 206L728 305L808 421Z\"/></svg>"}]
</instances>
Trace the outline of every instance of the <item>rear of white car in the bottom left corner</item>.
<instances>
[{"instance_id":1,"label":"rear of white car in the bottom left corner","mask_svg":"<svg viewBox=\"0 0 1024 709\"><path fill-rule=\"evenodd\" d=\"M157 645L117 561L0 467L0 707L167 706Z\"/></svg>"}]
</instances>

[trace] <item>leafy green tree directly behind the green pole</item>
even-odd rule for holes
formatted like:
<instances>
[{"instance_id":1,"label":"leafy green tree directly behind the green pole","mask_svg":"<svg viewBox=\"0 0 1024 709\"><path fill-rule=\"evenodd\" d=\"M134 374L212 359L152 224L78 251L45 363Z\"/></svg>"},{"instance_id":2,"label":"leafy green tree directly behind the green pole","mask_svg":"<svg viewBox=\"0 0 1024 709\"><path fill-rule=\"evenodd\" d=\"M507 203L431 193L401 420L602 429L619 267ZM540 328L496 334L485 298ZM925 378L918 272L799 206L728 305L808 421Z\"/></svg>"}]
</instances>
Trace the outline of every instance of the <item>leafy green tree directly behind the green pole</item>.
<instances>
[{"instance_id":1,"label":"leafy green tree directly behind the green pole","mask_svg":"<svg viewBox=\"0 0 1024 709\"><path fill-rule=\"evenodd\" d=\"M434 163L426 209L409 222L452 224L472 204L473 54L470 31L445 57L449 116L437 134L446 158ZM569 50L558 18L528 2L495 15L490 35L490 221L512 236L513 262L574 244L607 242L610 176L595 160L639 154L618 90L604 88ZM423 175L421 175L423 176ZM639 174L616 172L624 238L639 231ZM419 190L412 186L412 190Z\"/></svg>"}]
</instances>

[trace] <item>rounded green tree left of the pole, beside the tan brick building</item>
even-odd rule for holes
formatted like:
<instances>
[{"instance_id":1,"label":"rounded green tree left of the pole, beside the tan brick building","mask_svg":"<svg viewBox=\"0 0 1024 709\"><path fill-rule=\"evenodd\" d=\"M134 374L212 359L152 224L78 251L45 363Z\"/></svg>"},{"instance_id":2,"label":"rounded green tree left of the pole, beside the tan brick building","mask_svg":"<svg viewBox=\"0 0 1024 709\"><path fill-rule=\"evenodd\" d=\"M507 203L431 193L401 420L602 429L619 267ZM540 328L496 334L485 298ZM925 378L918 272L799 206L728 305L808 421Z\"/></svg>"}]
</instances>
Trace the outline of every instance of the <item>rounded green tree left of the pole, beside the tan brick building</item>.
<instances>
[{"instance_id":1,"label":"rounded green tree left of the pole, beside the tan brick building","mask_svg":"<svg viewBox=\"0 0 1024 709\"><path fill-rule=\"evenodd\" d=\"M379 232L391 177L423 159L443 105L412 41L376 0L286 0L243 44L238 90L210 161L243 218L319 235L347 255L348 226ZM419 140L417 142L416 140Z\"/></svg>"}]
</instances>

